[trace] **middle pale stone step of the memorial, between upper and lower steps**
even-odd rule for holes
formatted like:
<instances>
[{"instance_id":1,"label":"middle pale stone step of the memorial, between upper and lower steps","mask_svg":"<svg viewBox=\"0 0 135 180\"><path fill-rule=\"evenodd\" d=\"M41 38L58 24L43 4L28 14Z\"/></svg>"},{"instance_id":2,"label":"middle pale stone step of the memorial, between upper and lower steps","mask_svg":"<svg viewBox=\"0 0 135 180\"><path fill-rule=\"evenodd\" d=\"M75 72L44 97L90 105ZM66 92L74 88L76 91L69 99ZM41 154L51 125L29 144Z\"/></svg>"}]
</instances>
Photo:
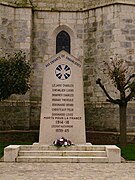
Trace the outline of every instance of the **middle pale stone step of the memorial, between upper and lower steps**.
<instances>
[{"instance_id":1,"label":"middle pale stone step of the memorial, between upper and lower steps","mask_svg":"<svg viewBox=\"0 0 135 180\"><path fill-rule=\"evenodd\" d=\"M19 156L91 156L106 157L105 151L19 151Z\"/></svg>"}]
</instances>

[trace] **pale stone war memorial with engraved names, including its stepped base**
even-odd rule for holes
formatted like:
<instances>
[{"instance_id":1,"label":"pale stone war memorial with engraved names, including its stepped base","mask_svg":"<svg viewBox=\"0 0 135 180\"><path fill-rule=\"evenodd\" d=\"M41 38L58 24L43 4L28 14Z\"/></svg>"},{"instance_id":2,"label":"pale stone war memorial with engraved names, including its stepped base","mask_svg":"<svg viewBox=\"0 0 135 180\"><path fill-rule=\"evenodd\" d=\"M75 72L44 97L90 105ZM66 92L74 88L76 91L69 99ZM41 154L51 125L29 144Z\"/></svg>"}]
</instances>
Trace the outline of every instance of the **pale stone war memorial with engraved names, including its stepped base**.
<instances>
[{"instance_id":1,"label":"pale stone war memorial with engraved names, including its stepped base","mask_svg":"<svg viewBox=\"0 0 135 180\"><path fill-rule=\"evenodd\" d=\"M10 145L5 162L121 162L120 149L86 143L82 63L61 51L44 64L39 143ZM56 139L70 146L55 147Z\"/></svg>"}]
</instances>

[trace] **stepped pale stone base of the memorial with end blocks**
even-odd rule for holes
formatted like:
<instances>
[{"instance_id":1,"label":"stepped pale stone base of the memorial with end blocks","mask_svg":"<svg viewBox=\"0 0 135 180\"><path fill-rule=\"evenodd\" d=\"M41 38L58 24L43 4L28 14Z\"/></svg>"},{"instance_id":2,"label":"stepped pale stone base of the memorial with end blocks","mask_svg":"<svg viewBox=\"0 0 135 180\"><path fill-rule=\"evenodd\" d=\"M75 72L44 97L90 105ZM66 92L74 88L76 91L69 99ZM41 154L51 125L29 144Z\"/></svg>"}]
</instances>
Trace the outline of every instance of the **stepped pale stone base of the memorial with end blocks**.
<instances>
[{"instance_id":1,"label":"stepped pale stone base of the memorial with end blocks","mask_svg":"<svg viewBox=\"0 0 135 180\"><path fill-rule=\"evenodd\" d=\"M4 149L5 162L112 163L121 162L115 145L81 144L57 148L53 145L10 145Z\"/></svg>"}]
</instances>

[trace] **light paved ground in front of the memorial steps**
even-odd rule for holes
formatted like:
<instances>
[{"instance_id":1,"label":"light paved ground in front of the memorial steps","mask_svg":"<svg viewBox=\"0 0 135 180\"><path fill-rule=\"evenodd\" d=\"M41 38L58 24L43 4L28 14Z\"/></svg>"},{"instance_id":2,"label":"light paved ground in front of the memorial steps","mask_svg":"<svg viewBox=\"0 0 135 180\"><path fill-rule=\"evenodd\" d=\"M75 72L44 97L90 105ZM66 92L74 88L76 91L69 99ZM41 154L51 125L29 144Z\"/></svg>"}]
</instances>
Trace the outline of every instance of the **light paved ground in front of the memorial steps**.
<instances>
[{"instance_id":1,"label":"light paved ground in front of the memorial steps","mask_svg":"<svg viewBox=\"0 0 135 180\"><path fill-rule=\"evenodd\" d=\"M4 163L0 180L135 180L135 163Z\"/></svg>"}]
</instances>

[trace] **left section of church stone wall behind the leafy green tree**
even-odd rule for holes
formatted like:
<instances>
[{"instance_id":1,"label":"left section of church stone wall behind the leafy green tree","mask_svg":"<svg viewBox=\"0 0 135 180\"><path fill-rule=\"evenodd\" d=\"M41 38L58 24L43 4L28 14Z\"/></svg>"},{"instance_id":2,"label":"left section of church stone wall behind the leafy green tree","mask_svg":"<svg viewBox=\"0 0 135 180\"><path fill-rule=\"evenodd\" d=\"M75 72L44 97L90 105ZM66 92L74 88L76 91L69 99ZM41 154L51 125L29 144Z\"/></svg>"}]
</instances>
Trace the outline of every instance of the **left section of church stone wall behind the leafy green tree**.
<instances>
[{"instance_id":1,"label":"left section of church stone wall behind the leafy green tree","mask_svg":"<svg viewBox=\"0 0 135 180\"><path fill-rule=\"evenodd\" d=\"M24 50L31 61L31 9L0 5L0 50ZM0 102L0 130L30 128L30 92Z\"/></svg>"}]
</instances>

